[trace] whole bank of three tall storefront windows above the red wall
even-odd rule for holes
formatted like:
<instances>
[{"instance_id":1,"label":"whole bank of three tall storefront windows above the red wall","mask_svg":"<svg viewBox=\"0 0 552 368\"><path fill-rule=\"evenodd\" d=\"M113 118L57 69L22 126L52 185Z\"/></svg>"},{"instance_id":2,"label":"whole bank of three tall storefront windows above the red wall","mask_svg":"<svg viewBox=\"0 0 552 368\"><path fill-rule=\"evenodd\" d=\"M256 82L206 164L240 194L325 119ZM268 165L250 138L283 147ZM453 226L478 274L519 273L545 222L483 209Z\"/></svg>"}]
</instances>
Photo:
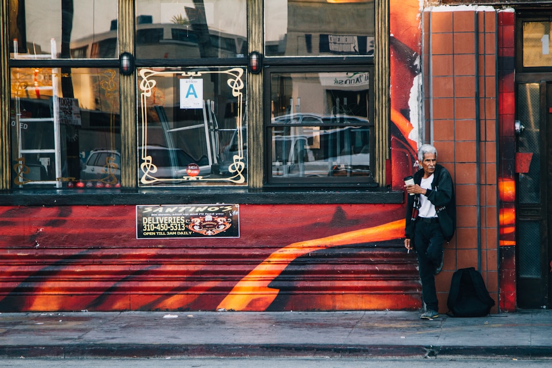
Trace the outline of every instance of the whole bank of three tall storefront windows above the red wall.
<instances>
[{"instance_id":1,"label":"whole bank of three tall storefront windows above the red wall","mask_svg":"<svg viewBox=\"0 0 552 368\"><path fill-rule=\"evenodd\" d=\"M247 186L250 169L254 188L374 183L374 6L10 1L12 188ZM246 102L248 35L262 55Z\"/></svg>"}]
</instances>

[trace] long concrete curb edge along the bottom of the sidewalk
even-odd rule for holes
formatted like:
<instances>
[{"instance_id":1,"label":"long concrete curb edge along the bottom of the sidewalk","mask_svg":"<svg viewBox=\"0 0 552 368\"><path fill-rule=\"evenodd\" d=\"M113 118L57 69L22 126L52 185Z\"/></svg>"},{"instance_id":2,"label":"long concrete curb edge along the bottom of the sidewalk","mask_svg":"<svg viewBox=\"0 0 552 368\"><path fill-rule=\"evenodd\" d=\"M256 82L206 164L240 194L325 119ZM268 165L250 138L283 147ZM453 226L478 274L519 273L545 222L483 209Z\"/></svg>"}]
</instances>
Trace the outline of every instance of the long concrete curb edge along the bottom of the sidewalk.
<instances>
[{"instance_id":1,"label":"long concrete curb edge along the bottom of the sidewalk","mask_svg":"<svg viewBox=\"0 0 552 368\"><path fill-rule=\"evenodd\" d=\"M552 358L552 346L290 345L290 344L71 344L0 346L0 359L172 357L328 357L328 358Z\"/></svg>"}]
</instances>

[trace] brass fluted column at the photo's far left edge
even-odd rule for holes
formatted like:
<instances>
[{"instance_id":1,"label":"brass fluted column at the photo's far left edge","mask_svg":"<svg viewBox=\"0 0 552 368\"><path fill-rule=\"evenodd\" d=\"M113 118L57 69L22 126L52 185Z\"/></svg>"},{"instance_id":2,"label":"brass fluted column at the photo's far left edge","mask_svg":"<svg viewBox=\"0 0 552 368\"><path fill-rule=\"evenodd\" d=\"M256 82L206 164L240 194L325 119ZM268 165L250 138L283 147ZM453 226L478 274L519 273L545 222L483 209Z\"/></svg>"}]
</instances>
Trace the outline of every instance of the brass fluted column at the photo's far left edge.
<instances>
[{"instance_id":1,"label":"brass fluted column at the photo's far left edge","mask_svg":"<svg viewBox=\"0 0 552 368\"><path fill-rule=\"evenodd\" d=\"M0 6L0 75L3 75L0 85L0 190L10 189L10 120L9 120L9 99L10 99L10 73L9 73L9 22L8 22L8 1L2 1Z\"/></svg>"}]
</instances>

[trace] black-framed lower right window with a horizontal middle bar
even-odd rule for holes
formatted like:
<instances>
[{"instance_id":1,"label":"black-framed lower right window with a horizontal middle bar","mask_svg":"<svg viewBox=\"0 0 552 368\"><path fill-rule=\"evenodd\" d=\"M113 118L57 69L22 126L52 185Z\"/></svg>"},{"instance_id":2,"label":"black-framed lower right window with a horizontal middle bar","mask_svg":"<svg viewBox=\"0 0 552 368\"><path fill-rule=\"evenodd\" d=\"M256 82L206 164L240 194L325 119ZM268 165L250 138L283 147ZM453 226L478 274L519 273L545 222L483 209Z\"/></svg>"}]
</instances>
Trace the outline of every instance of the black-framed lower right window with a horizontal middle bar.
<instances>
[{"instance_id":1,"label":"black-framed lower right window with a horizontal middle bar","mask_svg":"<svg viewBox=\"0 0 552 368\"><path fill-rule=\"evenodd\" d=\"M270 74L269 183L373 180L370 72Z\"/></svg>"}]
</instances>

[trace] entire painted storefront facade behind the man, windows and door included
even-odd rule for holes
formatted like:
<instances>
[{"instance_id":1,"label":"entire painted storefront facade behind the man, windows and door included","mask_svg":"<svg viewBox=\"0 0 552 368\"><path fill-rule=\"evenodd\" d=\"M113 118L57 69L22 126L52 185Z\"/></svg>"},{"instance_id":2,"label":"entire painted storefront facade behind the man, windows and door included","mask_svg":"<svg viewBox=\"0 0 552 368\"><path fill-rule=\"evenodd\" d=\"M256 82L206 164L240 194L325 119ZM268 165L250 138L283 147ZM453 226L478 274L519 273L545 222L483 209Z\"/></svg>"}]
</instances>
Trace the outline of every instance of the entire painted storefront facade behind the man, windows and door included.
<instances>
[{"instance_id":1,"label":"entire painted storefront facade behind the man, windows and door included","mask_svg":"<svg viewBox=\"0 0 552 368\"><path fill-rule=\"evenodd\" d=\"M467 266L493 312L550 307L548 3L224 2L171 2L198 5L181 24L157 18L164 1L73 2L100 26L3 0L0 311L416 310L402 178L422 142L458 194L442 312ZM181 109L190 78L200 108ZM167 216L140 223L136 206ZM239 227L184 236L192 218Z\"/></svg>"}]
</instances>

